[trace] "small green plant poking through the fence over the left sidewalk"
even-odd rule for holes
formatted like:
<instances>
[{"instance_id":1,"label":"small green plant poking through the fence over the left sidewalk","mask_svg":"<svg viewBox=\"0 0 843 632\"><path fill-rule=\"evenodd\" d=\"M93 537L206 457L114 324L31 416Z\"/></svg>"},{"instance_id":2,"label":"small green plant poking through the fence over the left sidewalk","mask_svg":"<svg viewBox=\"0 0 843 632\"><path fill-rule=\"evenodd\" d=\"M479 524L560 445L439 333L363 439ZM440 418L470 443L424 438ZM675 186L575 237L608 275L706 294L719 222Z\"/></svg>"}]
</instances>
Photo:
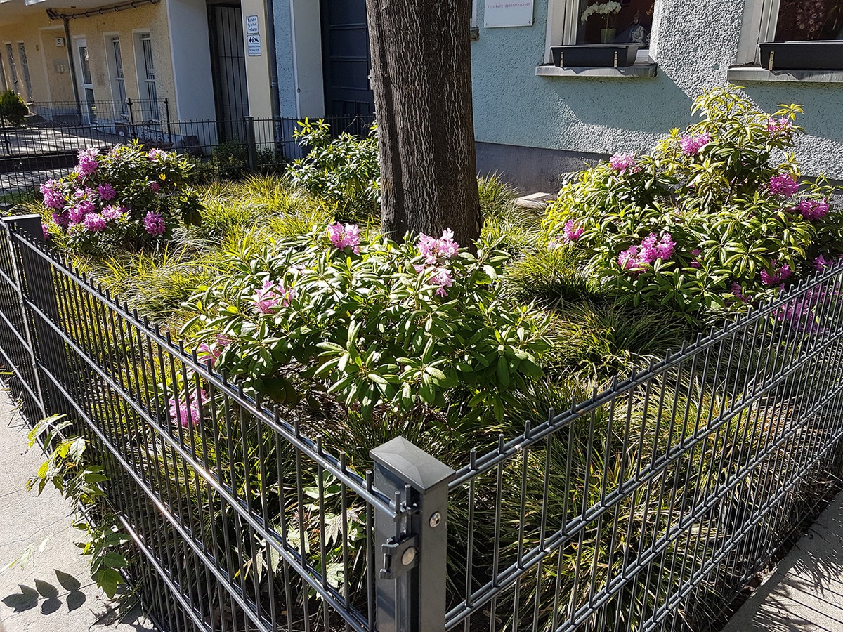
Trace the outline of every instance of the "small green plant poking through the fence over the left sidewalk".
<instances>
[{"instance_id":1,"label":"small green plant poking through the fence over the left sidewalk","mask_svg":"<svg viewBox=\"0 0 843 632\"><path fill-rule=\"evenodd\" d=\"M99 485L108 480L99 465L86 463L85 450L88 446L83 437L63 437L62 430L71 426L62 415L53 415L40 420L30 431L29 446L43 442L52 447L47 460L26 485L27 490L36 488L40 495L47 485L73 503L76 517L73 527L86 533L86 541L78 544L82 554L89 557L91 578L109 598L115 596L117 587L125 583L120 569L128 565L125 550L129 538L120 528L120 522L111 511L103 511L105 495ZM95 522L91 520L95 517Z\"/></svg>"}]
</instances>

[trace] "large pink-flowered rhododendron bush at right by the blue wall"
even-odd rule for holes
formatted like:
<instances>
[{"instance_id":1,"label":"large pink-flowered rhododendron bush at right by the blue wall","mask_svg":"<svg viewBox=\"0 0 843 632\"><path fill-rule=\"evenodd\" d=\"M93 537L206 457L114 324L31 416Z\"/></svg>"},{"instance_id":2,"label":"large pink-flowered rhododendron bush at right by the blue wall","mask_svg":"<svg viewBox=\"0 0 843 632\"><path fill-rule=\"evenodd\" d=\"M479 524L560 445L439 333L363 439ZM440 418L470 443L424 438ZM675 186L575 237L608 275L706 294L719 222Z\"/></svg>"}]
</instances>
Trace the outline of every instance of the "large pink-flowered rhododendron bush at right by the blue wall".
<instances>
[{"instance_id":1,"label":"large pink-flowered rhododendron bush at right by the blue wall","mask_svg":"<svg viewBox=\"0 0 843 632\"><path fill-rule=\"evenodd\" d=\"M798 105L774 115L737 88L697 99L702 121L651 153L615 154L550 206L550 248L574 249L616 300L690 321L769 298L840 255L843 223L825 179L790 150Z\"/></svg>"}]
</instances>

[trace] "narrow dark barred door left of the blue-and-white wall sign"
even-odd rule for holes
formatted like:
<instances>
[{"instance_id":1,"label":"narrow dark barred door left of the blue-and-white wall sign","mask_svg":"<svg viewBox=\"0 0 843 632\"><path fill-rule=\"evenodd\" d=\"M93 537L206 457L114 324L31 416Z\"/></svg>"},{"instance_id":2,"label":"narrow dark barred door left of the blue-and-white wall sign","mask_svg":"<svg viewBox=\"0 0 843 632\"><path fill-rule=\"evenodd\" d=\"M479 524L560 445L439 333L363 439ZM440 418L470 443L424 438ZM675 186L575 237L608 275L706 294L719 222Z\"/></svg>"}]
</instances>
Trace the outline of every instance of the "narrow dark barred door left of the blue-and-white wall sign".
<instances>
[{"instance_id":1,"label":"narrow dark barred door left of the blue-and-white wall sign","mask_svg":"<svg viewBox=\"0 0 843 632\"><path fill-rule=\"evenodd\" d=\"M221 141L244 141L249 115L243 10L239 4L209 4L214 100Z\"/></svg>"}]
</instances>

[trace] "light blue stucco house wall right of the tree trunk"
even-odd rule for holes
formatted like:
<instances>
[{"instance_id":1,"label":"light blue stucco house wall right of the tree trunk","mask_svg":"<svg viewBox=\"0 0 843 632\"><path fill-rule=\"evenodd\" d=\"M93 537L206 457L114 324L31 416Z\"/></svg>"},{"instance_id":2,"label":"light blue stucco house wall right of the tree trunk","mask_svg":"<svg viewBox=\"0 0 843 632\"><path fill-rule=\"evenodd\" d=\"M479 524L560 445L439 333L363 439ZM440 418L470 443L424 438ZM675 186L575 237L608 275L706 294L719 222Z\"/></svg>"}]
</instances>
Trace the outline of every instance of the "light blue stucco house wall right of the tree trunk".
<instances>
[{"instance_id":1,"label":"light blue stucco house wall right of the tree trunk","mask_svg":"<svg viewBox=\"0 0 843 632\"><path fill-rule=\"evenodd\" d=\"M545 56L547 0L535 0L530 27L485 29L483 7L477 8L480 38L471 45L477 141L615 153L647 150L670 128L693 122L692 100L727 83L744 0L657 0L654 78L536 77ZM808 174L843 179L843 84L754 83L747 94L765 110L804 104L799 122L809 135L797 158Z\"/></svg>"}]
</instances>

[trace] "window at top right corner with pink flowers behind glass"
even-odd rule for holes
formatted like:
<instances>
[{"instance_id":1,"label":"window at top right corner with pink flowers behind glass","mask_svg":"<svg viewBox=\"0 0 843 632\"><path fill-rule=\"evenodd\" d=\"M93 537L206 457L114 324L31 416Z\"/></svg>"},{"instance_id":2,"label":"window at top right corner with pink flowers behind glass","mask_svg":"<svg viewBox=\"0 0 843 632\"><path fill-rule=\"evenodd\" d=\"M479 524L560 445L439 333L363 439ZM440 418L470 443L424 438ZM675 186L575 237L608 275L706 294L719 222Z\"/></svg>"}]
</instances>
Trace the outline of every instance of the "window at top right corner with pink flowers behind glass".
<instances>
[{"instance_id":1,"label":"window at top right corner with pink flowers behind glass","mask_svg":"<svg viewBox=\"0 0 843 632\"><path fill-rule=\"evenodd\" d=\"M759 63L760 42L843 40L843 1L764 0L744 5L738 65Z\"/></svg>"}]
</instances>

